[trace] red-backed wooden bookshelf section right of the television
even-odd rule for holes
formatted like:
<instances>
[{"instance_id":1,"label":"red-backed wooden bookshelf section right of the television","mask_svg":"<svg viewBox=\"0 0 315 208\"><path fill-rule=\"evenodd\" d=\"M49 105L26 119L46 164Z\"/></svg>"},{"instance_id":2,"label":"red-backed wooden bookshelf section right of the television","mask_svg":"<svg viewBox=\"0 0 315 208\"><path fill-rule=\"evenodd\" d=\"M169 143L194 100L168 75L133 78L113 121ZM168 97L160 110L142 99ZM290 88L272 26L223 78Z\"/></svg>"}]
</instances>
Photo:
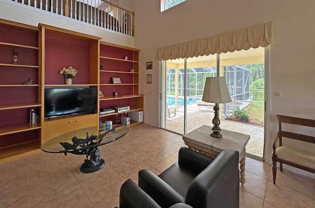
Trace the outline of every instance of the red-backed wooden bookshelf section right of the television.
<instances>
[{"instance_id":1,"label":"red-backed wooden bookshelf section right of the television","mask_svg":"<svg viewBox=\"0 0 315 208\"><path fill-rule=\"evenodd\" d=\"M112 120L117 123L121 114L126 115L136 110L143 111L144 108L144 95L139 94L140 50L105 42L100 42L99 48L99 90L103 94L99 98L99 106L102 108L130 106L130 110L124 113L100 116L103 122ZM114 83L114 78L119 78L120 82ZM143 121L130 121L131 125L138 123Z\"/></svg>"}]
</instances>

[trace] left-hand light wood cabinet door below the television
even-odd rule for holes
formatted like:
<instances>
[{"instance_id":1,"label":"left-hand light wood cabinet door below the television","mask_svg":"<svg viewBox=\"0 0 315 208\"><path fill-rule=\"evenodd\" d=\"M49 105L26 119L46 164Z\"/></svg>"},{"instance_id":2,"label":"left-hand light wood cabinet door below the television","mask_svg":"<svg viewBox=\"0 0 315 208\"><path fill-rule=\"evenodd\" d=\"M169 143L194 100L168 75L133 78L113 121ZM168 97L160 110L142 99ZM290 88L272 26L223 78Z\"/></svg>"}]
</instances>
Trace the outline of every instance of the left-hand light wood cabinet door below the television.
<instances>
[{"instance_id":1,"label":"left-hand light wood cabinet door below the television","mask_svg":"<svg viewBox=\"0 0 315 208\"><path fill-rule=\"evenodd\" d=\"M73 131L73 129L74 129L74 119L48 121L45 123L46 140L49 140L65 132Z\"/></svg>"}]
</instances>

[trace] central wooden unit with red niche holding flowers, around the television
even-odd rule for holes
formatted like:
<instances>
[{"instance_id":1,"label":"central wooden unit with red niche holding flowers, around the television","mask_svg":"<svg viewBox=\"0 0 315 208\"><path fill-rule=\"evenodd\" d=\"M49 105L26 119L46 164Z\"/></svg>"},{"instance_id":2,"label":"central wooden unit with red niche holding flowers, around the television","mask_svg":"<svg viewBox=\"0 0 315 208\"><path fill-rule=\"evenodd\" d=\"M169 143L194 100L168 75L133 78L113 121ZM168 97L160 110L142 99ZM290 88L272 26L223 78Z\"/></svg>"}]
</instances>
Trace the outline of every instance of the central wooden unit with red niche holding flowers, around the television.
<instances>
[{"instance_id":1,"label":"central wooden unit with red niche holding flowers, around the television","mask_svg":"<svg viewBox=\"0 0 315 208\"><path fill-rule=\"evenodd\" d=\"M98 86L98 46L99 39L82 33L63 30L48 25L39 25L41 36L40 51L41 67L44 71L45 88L66 88L64 75L59 71L72 66L78 73L72 79L71 88L97 87ZM58 60L58 61L56 61ZM44 99L42 100L44 103ZM98 109L98 107L97 107ZM42 109L44 115L44 108ZM93 116L70 116L49 121L41 117L45 123L45 131L42 132L42 143L58 134L73 131L75 128L98 125L98 118Z\"/></svg>"}]
</instances>

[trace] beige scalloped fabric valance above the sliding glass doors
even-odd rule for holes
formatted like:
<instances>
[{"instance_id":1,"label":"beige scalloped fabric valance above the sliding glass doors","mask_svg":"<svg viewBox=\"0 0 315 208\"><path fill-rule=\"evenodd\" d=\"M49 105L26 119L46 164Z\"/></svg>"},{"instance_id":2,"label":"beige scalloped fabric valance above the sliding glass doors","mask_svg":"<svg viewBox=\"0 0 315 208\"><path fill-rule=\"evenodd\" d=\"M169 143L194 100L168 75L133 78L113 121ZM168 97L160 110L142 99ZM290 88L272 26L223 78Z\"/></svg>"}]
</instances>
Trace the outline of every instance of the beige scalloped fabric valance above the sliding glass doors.
<instances>
[{"instance_id":1,"label":"beige scalloped fabric valance above the sliding glass doors","mask_svg":"<svg viewBox=\"0 0 315 208\"><path fill-rule=\"evenodd\" d=\"M273 42L273 23L226 32L189 42L178 43L157 49L157 60L198 57L221 54L235 50L266 47Z\"/></svg>"}]
</instances>

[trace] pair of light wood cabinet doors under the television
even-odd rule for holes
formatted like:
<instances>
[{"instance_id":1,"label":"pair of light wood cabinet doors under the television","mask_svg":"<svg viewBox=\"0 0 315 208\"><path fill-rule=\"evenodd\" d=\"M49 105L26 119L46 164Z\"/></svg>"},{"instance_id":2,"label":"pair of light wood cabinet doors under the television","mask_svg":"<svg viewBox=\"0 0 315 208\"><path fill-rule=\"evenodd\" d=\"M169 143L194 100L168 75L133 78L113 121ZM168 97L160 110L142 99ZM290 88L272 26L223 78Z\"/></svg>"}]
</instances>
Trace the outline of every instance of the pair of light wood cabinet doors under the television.
<instances>
[{"instance_id":1,"label":"pair of light wood cabinet doors under the television","mask_svg":"<svg viewBox=\"0 0 315 208\"><path fill-rule=\"evenodd\" d=\"M72 118L55 119L50 121L45 120L45 141L69 131L93 127L96 125L96 121L97 115L76 116Z\"/></svg>"}]
</instances>

